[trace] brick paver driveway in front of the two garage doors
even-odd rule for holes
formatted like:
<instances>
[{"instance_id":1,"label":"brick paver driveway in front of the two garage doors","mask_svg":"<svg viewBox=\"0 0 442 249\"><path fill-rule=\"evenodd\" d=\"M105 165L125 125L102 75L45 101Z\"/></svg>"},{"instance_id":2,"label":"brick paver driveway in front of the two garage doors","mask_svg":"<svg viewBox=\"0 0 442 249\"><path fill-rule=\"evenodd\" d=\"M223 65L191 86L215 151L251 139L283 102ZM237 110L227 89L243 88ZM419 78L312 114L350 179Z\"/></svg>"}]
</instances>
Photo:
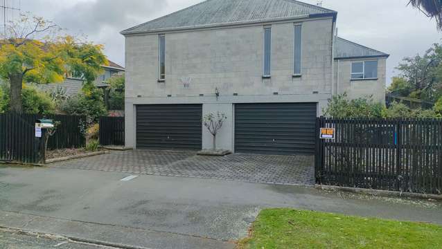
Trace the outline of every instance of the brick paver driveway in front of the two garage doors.
<instances>
[{"instance_id":1,"label":"brick paver driveway in front of the two garage doors","mask_svg":"<svg viewBox=\"0 0 442 249\"><path fill-rule=\"evenodd\" d=\"M130 174L186 176L254 183L312 185L313 156L269 156L231 154L224 157L197 156L188 151L112 151L51 167L90 169Z\"/></svg>"}]
</instances>

